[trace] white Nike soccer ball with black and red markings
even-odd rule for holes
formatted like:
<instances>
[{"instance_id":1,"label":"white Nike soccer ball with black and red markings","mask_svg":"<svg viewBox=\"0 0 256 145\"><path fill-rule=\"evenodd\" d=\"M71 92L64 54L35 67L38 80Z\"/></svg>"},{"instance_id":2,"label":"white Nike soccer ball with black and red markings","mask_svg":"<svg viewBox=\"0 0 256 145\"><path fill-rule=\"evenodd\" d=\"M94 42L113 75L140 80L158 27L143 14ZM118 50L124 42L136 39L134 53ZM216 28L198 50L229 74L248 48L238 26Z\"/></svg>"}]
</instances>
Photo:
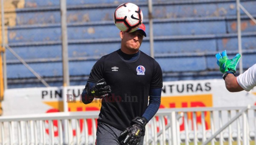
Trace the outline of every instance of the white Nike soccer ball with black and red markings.
<instances>
[{"instance_id":1,"label":"white Nike soccer ball with black and red markings","mask_svg":"<svg viewBox=\"0 0 256 145\"><path fill-rule=\"evenodd\" d=\"M140 28L142 21L142 11L140 7L133 3L123 3L115 10L114 22L121 31L134 32Z\"/></svg>"}]
</instances>

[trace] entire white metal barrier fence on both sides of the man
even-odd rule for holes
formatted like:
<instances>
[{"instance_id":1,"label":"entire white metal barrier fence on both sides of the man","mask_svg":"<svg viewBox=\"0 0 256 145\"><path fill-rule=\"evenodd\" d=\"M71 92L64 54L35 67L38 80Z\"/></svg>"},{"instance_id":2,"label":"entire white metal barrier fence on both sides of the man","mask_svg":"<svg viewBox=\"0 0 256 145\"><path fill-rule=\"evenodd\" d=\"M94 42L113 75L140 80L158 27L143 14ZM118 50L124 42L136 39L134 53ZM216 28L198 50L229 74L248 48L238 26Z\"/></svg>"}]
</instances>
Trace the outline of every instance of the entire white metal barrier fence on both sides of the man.
<instances>
[{"instance_id":1,"label":"entire white metal barrier fence on both sides of the man","mask_svg":"<svg viewBox=\"0 0 256 145\"><path fill-rule=\"evenodd\" d=\"M92 145L99 112L0 117L1 145ZM60 127L61 126L61 127ZM146 125L145 145L249 145L256 107L160 109Z\"/></svg>"}]
</instances>

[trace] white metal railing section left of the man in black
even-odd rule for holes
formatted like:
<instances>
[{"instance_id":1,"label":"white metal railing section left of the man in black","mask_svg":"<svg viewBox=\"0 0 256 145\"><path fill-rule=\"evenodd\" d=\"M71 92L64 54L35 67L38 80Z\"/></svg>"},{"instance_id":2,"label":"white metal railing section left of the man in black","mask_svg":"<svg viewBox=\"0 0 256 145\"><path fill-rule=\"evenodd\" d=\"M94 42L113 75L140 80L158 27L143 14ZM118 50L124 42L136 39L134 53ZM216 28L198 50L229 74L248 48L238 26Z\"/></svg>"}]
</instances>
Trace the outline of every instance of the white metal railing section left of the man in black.
<instances>
[{"instance_id":1,"label":"white metal railing section left of the man in black","mask_svg":"<svg viewBox=\"0 0 256 145\"><path fill-rule=\"evenodd\" d=\"M99 112L59 112L1 117L2 145L71 145L91 144L96 139ZM88 121L91 120L91 128ZM65 125L66 124L66 125ZM61 127L60 127L61 126ZM64 128L67 126L67 129ZM88 130L92 129L92 135ZM83 130L81 134L81 130Z\"/></svg>"}]
</instances>

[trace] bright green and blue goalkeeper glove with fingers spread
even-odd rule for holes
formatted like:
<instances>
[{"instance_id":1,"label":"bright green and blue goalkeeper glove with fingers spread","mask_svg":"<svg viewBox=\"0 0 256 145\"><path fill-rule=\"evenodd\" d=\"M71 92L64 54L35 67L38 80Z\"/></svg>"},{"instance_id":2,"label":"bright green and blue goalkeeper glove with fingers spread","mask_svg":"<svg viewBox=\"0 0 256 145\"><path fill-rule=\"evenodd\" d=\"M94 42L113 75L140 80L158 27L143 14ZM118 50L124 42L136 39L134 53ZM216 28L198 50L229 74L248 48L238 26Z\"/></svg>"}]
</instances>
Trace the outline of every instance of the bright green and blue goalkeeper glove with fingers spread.
<instances>
[{"instance_id":1,"label":"bright green and blue goalkeeper glove with fingers spread","mask_svg":"<svg viewBox=\"0 0 256 145\"><path fill-rule=\"evenodd\" d=\"M221 73L225 73L227 71L233 72L236 74L236 65L241 59L241 54L237 53L233 59L228 59L226 50L222 53L217 53L217 64L220 67Z\"/></svg>"}]
</instances>

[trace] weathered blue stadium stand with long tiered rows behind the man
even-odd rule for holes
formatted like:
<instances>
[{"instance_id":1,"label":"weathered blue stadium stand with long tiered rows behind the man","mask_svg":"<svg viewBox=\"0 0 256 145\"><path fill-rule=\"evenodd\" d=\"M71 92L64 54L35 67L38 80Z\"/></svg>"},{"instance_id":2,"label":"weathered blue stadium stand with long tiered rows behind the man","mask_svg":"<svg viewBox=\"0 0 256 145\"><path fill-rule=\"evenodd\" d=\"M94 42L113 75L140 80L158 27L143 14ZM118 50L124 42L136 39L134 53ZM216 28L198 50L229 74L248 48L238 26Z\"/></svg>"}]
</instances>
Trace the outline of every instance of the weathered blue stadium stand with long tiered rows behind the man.
<instances>
[{"instance_id":1,"label":"weathered blue stadium stand with long tiered rows behind the man","mask_svg":"<svg viewBox=\"0 0 256 145\"><path fill-rule=\"evenodd\" d=\"M67 0L70 85L84 85L101 56L119 48L114 9L125 0ZM147 0L130 0L143 11L147 33ZM254 17L256 1L241 0ZM59 0L25 0L16 8L15 25L7 28L8 45L50 86L62 85ZM221 78L215 53L238 52L236 0L153 0L154 53L163 81ZM8 22L7 24L8 25ZM243 66L255 64L256 24L241 11ZM141 50L150 55L149 38ZM8 50L8 88L44 86Z\"/></svg>"}]
</instances>

